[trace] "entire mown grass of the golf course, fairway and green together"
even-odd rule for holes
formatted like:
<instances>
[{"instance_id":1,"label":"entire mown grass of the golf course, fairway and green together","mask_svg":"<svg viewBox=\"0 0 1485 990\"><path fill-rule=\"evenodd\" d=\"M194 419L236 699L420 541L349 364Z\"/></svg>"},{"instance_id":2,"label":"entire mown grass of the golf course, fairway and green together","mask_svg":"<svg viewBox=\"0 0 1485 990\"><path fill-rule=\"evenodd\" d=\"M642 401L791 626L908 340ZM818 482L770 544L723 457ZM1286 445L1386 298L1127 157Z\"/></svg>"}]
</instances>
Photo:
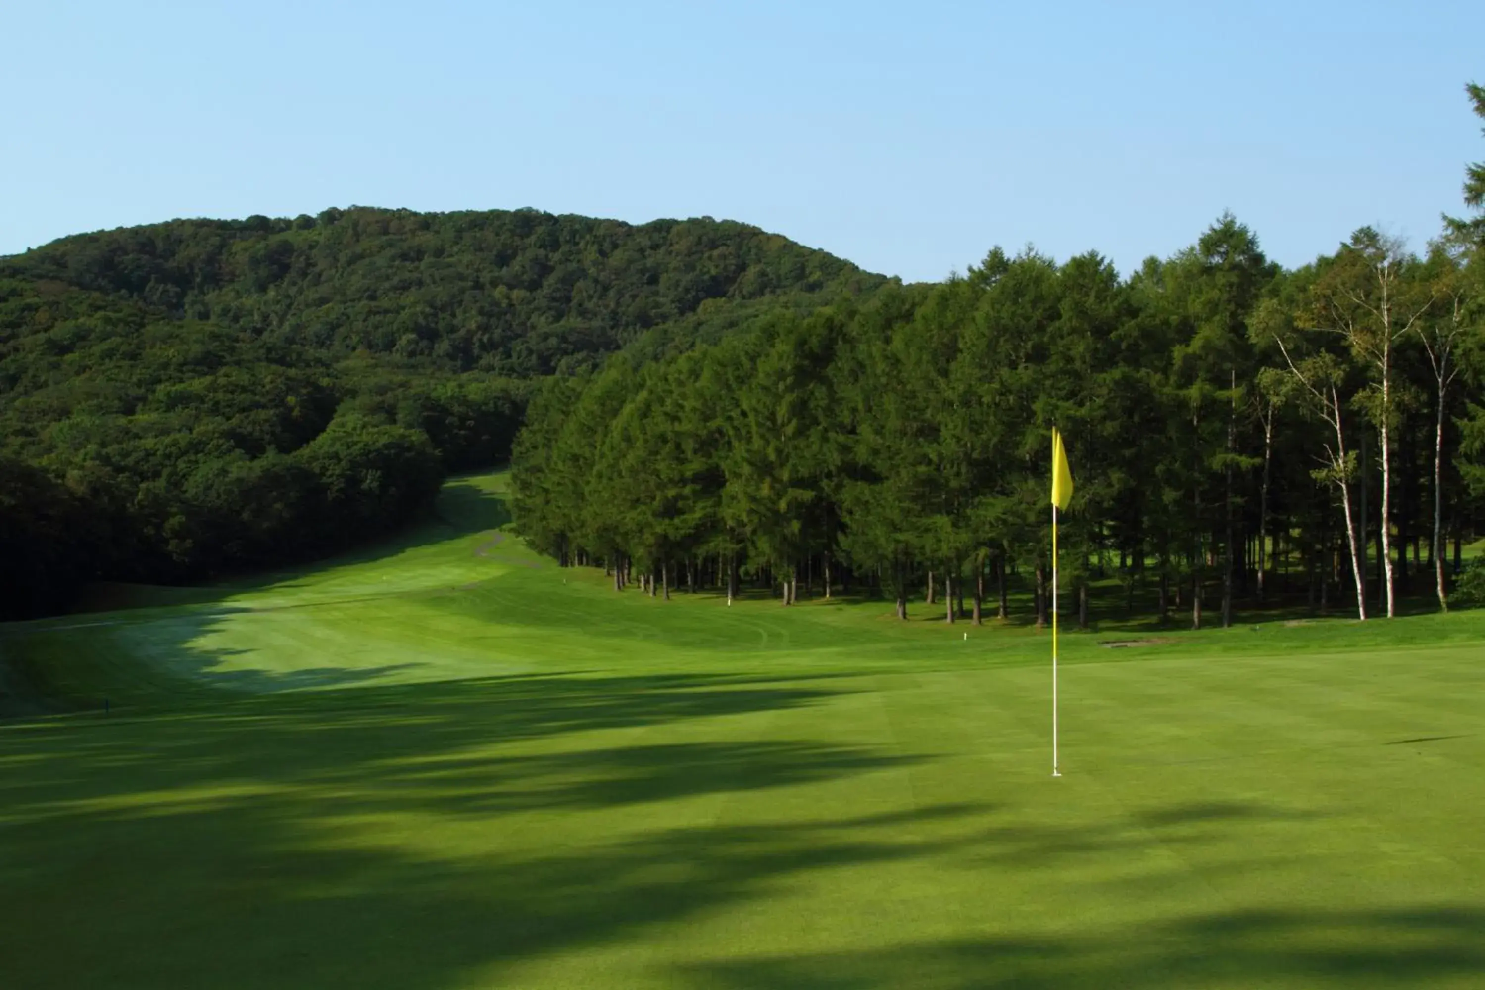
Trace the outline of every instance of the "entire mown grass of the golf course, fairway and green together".
<instances>
[{"instance_id":1,"label":"entire mown grass of the golf course, fairway and green together","mask_svg":"<svg viewBox=\"0 0 1485 990\"><path fill-rule=\"evenodd\" d=\"M0 986L1485 986L1481 613L1069 634L1051 779L1045 634L619 595L502 484L0 626L73 708L0 721Z\"/></svg>"}]
</instances>

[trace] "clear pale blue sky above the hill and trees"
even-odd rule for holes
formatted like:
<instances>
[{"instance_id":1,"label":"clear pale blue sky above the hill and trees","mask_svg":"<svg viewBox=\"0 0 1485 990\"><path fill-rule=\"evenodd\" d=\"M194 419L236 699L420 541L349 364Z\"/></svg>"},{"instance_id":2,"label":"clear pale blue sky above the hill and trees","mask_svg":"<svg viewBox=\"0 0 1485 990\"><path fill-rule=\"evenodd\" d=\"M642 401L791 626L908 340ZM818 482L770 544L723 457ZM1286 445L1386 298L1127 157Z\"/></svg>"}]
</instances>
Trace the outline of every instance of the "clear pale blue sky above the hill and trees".
<instances>
[{"instance_id":1,"label":"clear pale blue sky above the hill and trees","mask_svg":"<svg viewBox=\"0 0 1485 990\"><path fill-rule=\"evenodd\" d=\"M1219 7L1219 9L1218 9ZM904 279L1121 270L1233 209L1414 245L1485 157L1485 3L12 3L0 254L172 217L536 206Z\"/></svg>"}]
</instances>

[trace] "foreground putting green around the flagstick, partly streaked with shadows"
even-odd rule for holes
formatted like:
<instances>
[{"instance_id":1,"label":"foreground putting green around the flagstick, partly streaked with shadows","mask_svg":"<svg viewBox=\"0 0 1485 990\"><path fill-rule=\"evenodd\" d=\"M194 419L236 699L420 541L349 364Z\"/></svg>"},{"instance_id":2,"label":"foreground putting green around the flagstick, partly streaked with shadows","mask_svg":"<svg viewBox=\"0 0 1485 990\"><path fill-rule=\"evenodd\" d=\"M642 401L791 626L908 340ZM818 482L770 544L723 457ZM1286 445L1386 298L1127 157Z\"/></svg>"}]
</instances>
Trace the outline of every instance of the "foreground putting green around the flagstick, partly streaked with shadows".
<instances>
[{"instance_id":1,"label":"foreground putting green around the flagstick, partly streaked with shadows","mask_svg":"<svg viewBox=\"0 0 1485 990\"><path fill-rule=\"evenodd\" d=\"M1084 671L1059 782L1019 668L12 726L6 986L1478 986L1473 705Z\"/></svg>"}]
</instances>

